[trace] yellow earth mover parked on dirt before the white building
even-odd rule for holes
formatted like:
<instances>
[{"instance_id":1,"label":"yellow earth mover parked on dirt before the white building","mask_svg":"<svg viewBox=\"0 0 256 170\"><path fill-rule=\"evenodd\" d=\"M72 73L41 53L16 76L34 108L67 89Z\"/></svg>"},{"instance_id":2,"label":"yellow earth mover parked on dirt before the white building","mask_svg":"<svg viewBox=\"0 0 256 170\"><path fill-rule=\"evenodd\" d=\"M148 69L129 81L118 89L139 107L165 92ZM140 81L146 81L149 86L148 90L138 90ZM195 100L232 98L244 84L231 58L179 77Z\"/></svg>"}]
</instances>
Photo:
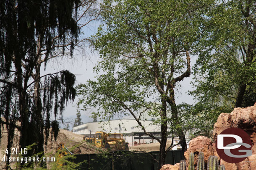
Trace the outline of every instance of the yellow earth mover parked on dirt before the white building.
<instances>
[{"instance_id":1,"label":"yellow earth mover parked on dirt before the white building","mask_svg":"<svg viewBox=\"0 0 256 170\"><path fill-rule=\"evenodd\" d=\"M128 143L125 142L123 134L121 133L107 134L105 132L96 132L94 138L86 136L84 140L99 148L129 150Z\"/></svg>"}]
</instances>

